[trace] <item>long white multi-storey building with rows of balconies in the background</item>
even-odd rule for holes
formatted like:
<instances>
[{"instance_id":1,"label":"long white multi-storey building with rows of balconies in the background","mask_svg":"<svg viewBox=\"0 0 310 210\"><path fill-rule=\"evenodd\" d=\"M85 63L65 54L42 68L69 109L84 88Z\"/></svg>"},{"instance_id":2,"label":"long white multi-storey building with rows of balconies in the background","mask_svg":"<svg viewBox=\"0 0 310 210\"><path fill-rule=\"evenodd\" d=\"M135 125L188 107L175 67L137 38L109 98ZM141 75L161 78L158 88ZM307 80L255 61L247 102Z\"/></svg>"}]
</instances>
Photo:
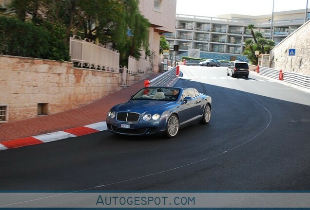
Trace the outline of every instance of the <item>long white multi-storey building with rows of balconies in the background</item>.
<instances>
[{"instance_id":1,"label":"long white multi-storey building with rows of balconies in the background","mask_svg":"<svg viewBox=\"0 0 310 210\"><path fill-rule=\"evenodd\" d=\"M308 19L310 13L307 14ZM242 55L246 39L252 39L247 26L252 24L266 38L276 44L293 33L305 23L305 10L276 12L263 16L244 16L236 14L221 15L217 18L176 14L174 34L165 34L170 43L171 54L174 45L179 46L178 58L199 52L200 58L223 60L246 59ZM190 50L189 50L190 49Z\"/></svg>"}]
</instances>

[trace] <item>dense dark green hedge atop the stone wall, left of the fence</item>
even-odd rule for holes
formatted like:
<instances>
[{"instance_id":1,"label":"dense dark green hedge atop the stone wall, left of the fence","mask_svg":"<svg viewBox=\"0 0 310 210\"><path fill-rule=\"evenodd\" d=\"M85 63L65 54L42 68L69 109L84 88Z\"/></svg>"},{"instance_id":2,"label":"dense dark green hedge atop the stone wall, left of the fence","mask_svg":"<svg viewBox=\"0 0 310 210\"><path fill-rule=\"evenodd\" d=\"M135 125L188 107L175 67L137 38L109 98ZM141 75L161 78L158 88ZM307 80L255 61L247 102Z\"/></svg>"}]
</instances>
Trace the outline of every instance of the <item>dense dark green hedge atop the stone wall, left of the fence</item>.
<instances>
[{"instance_id":1,"label":"dense dark green hedge atop the stone wall, left of the fence","mask_svg":"<svg viewBox=\"0 0 310 210\"><path fill-rule=\"evenodd\" d=\"M51 23L42 27L0 17L0 54L68 61L69 48L61 39L62 30Z\"/></svg>"}]
</instances>

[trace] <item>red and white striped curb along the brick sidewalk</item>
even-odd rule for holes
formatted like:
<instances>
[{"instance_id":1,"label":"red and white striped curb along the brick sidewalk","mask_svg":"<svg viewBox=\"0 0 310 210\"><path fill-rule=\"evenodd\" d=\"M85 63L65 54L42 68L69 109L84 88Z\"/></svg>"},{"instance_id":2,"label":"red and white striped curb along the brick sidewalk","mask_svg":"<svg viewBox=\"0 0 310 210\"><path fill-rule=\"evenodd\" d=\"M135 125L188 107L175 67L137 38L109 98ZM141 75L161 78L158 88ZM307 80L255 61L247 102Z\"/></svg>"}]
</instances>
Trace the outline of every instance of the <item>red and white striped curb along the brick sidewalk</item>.
<instances>
[{"instance_id":1,"label":"red and white striped curb along the brick sidewalk","mask_svg":"<svg viewBox=\"0 0 310 210\"><path fill-rule=\"evenodd\" d=\"M0 143L0 150L14 149L23 146L47 143L56 140L63 140L77 136L83 136L99 131L107 130L106 122L93 123L77 128L70 128L63 131L56 131L38 136L26 137L17 140L8 140Z\"/></svg>"}]
</instances>

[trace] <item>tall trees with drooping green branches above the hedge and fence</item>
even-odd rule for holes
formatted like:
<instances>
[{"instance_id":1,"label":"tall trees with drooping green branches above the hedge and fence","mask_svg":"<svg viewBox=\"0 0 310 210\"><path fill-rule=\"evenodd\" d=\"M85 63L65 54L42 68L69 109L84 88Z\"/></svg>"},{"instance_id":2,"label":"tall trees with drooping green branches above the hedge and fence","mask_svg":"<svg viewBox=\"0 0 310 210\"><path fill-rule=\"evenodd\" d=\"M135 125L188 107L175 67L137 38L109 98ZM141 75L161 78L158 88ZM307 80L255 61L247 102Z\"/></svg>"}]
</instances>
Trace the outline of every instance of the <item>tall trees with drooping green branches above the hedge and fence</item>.
<instances>
[{"instance_id":1,"label":"tall trees with drooping green branches above the hedge and fence","mask_svg":"<svg viewBox=\"0 0 310 210\"><path fill-rule=\"evenodd\" d=\"M65 29L57 37L67 45L71 35L112 42L124 61L128 55L139 58L141 48L148 50L150 23L139 11L139 0L12 0L11 8L20 20L32 17L51 33L45 22Z\"/></svg>"}]
</instances>

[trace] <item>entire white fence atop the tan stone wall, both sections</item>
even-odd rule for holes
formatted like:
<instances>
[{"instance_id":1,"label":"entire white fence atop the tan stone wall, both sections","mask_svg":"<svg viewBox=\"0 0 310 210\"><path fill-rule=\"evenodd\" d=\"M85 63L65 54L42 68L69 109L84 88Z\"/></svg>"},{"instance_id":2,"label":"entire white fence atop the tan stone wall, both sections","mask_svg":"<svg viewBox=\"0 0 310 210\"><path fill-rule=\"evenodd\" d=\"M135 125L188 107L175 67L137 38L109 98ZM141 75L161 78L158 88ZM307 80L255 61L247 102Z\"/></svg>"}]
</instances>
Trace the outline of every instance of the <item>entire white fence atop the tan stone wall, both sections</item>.
<instances>
[{"instance_id":1,"label":"entire white fence atop the tan stone wall, both sections","mask_svg":"<svg viewBox=\"0 0 310 210\"><path fill-rule=\"evenodd\" d=\"M82 40L75 35L70 37L70 55L74 66L95 70L105 70L121 73L120 86L131 86L141 79L152 75L152 63L147 59L128 57L128 68L119 67L119 53L102 44L96 44L89 39Z\"/></svg>"}]
</instances>

